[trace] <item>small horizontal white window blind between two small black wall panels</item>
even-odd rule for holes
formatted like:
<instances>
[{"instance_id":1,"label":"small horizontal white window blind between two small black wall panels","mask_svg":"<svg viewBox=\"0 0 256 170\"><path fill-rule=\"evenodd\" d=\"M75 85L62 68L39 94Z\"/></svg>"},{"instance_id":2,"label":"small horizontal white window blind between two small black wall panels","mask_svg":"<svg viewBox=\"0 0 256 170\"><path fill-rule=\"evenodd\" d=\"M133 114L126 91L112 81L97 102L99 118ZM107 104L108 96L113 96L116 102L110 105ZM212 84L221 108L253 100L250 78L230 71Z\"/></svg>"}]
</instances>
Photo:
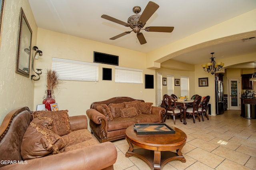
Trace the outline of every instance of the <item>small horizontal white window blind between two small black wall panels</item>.
<instances>
[{"instance_id":1,"label":"small horizontal white window blind between two small black wall panels","mask_svg":"<svg viewBox=\"0 0 256 170\"><path fill-rule=\"evenodd\" d=\"M142 84L142 71L142 69L116 66L115 82Z\"/></svg>"}]
</instances>

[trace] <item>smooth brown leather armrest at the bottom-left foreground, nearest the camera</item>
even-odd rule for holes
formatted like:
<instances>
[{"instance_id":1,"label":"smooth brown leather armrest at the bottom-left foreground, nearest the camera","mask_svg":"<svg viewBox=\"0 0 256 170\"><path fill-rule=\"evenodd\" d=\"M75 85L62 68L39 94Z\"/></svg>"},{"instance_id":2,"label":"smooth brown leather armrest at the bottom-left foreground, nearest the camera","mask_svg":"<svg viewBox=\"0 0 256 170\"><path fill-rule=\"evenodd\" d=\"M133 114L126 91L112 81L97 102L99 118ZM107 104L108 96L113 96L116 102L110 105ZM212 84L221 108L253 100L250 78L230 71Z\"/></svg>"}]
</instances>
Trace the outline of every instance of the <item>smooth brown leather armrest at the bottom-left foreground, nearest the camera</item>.
<instances>
[{"instance_id":1,"label":"smooth brown leather armrest at the bottom-left foreground, nearest the camera","mask_svg":"<svg viewBox=\"0 0 256 170\"><path fill-rule=\"evenodd\" d=\"M111 142L104 142L27 162L23 161L23 164L6 165L0 170L101 170L112 166L116 162L116 158L116 146Z\"/></svg>"}]
</instances>

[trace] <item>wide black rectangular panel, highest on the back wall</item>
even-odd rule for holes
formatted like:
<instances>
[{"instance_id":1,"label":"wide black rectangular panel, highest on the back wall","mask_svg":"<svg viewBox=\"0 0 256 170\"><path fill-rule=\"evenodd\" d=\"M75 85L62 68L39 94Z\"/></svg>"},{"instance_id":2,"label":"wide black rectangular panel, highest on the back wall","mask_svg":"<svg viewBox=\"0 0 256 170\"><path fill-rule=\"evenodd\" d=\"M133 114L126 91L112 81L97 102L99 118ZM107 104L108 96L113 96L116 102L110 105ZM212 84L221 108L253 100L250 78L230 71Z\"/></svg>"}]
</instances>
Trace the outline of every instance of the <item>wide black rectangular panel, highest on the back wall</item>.
<instances>
[{"instance_id":1,"label":"wide black rectangular panel, highest on the back wall","mask_svg":"<svg viewBox=\"0 0 256 170\"><path fill-rule=\"evenodd\" d=\"M93 51L93 62L118 65L118 56Z\"/></svg>"}]
</instances>

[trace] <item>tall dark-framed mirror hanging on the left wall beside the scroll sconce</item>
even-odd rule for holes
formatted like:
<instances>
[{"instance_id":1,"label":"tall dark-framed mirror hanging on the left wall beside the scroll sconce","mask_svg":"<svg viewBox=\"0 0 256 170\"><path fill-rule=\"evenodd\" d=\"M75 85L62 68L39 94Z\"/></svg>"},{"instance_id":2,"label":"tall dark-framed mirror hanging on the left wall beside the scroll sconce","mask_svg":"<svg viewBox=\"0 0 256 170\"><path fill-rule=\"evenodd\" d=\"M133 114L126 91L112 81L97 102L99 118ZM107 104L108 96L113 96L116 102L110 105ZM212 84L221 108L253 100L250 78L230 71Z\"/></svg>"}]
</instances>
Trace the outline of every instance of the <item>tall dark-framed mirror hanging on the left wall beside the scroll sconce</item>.
<instances>
[{"instance_id":1,"label":"tall dark-framed mirror hanging on the left wall beside the scroll sconce","mask_svg":"<svg viewBox=\"0 0 256 170\"><path fill-rule=\"evenodd\" d=\"M18 35L18 50L16 57L16 73L29 77L32 30L28 20L20 8L20 28Z\"/></svg>"}]
</instances>

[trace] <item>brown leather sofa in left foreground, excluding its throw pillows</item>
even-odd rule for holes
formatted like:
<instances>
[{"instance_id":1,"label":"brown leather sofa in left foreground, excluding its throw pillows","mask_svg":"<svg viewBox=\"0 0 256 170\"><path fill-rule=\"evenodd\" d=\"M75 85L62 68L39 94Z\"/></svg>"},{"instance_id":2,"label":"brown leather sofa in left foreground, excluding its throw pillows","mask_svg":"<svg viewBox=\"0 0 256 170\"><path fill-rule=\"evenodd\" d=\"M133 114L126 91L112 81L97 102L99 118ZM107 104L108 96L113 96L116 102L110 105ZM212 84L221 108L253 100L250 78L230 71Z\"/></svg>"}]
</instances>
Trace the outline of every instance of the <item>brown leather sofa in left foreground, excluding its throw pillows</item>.
<instances>
[{"instance_id":1,"label":"brown leather sofa in left foreground, excluding its throw pillows","mask_svg":"<svg viewBox=\"0 0 256 170\"><path fill-rule=\"evenodd\" d=\"M21 146L24 145L22 140L32 120L32 112L28 107L14 109L4 118L0 126L0 170L113 170L113 164L117 158L116 147L111 142L101 144L93 138L87 130L86 115L70 117L70 134L79 130L89 134L85 135L86 140L83 144L76 145L81 145L81 148L24 160L21 155ZM70 138L70 140L76 139ZM90 142L86 144L87 140Z\"/></svg>"}]
</instances>

